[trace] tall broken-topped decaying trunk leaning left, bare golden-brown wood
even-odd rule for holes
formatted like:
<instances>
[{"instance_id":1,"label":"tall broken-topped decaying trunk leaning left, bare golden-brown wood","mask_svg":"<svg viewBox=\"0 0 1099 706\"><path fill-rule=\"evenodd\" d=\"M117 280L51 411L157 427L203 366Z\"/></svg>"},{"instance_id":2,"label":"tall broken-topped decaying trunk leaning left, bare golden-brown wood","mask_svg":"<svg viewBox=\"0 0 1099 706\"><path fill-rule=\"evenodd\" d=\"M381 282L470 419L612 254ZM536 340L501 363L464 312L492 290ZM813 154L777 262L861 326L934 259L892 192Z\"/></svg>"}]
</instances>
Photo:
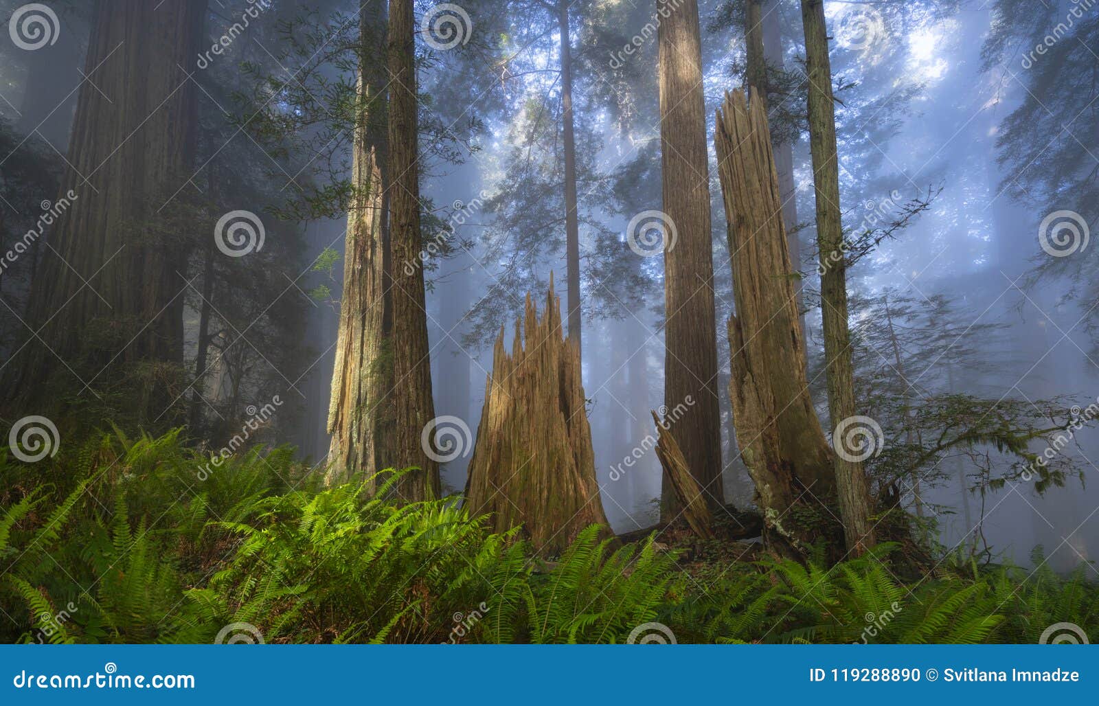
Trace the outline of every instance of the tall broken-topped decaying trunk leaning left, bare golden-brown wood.
<instances>
[{"instance_id":1,"label":"tall broken-topped decaying trunk leaning left, bare golden-brown wood","mask_svg":"<svg viewBox=\"0 0 1099 706\"><path fill-rule=\"evenodd\" d=\"M725 95L714 136L729 225L736 315L729 319L736 441L756 486L767 539L799 552L797 503L834 492L832 450L806 382L789 246L763 101ZM810 495L811 494L811 495Z\"/></svg>"}]
</instances>

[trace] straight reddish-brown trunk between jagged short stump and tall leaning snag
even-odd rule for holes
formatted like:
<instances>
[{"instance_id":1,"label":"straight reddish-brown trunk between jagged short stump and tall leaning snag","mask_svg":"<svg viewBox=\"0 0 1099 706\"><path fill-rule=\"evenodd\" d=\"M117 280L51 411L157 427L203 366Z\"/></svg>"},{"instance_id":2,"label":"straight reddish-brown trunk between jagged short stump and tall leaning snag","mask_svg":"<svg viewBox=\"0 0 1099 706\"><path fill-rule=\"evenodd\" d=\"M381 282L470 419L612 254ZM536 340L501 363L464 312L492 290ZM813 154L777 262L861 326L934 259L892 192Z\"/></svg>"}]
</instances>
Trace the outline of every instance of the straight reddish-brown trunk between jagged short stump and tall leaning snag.
<instances>
[{"instance_id":1,"label":"straight reddish-brown trunk between jagged short stump and tall leaning snag","mask_svg":"<svg viewBox=\"0 0 1099 706\"><path fill-rule=\"evenodd\" d=\"M660 165L664 212L677 239L664 251L665 387L668 409L690 404L670 432L707 501L723 506L718 335L713 305L713 240L702 98L698 3L685 0L658 30ZM688 400L688 398L690 398ZM678 511L664 483L662 515Z\"/></svg>"}]
</instances>

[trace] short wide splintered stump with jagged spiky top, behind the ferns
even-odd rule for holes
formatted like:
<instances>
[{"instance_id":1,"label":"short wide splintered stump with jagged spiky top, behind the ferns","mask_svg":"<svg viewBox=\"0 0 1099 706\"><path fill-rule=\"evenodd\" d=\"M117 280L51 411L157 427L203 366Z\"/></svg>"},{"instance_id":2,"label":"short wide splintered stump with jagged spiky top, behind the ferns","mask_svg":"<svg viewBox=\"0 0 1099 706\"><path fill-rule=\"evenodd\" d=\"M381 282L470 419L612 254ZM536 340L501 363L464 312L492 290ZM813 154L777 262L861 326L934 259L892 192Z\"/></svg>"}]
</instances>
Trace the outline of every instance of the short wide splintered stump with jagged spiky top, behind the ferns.
<instances>
[{"instance_id":1,"label":"short wide splintered stump with jagged spiky top, behind the ferns","mask_svg":"<svg viewBox=\"0 0 1099 706\"><path fill-rule=\"evenodd\" d=\"M553 556L585 527L609 523L596 482L580 353L562 335L552 275L542 320L528 294L520 323L511 355L502 328L492 351L466 506L473 515L490 515L497 531L522 526L535 551Z\"/></svg>"}]
</instances>

